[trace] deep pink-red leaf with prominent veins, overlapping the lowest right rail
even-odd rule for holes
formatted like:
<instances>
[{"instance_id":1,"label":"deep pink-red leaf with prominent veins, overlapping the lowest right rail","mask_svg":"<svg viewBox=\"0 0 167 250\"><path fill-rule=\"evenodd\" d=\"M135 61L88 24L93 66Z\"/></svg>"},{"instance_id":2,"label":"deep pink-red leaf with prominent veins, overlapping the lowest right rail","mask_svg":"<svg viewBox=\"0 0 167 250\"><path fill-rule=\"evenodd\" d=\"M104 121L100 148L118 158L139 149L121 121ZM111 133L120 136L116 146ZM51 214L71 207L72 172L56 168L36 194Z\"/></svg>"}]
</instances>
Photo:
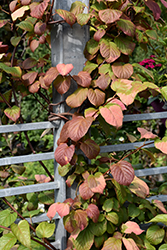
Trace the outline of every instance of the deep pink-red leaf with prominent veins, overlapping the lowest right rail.
<instances>
[{"instance_id":1,"label":"deep pink-red leaf with prominent veins, overlapping the lowest right rail","mask_svg":"<svg viewBox=\"0 0 167 250\"><path fill-rule=\"evenodd\" d=\"M121 185L129 186L133 181L134 169L127 161L119 161L116 164L110 165L110 171L113 178Z\"/></svg>"}]
</instances>

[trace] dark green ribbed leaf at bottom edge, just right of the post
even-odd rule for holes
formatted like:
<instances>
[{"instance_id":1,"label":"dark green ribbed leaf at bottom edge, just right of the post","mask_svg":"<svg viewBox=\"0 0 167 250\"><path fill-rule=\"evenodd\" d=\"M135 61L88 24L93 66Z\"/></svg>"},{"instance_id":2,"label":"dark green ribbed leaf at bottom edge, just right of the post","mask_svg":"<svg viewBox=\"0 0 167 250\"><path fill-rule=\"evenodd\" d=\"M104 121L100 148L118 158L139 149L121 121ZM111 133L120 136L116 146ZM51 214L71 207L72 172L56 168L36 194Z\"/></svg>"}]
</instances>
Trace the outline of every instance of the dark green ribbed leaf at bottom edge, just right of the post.
<instances>
[{"instance_id":1,"label":"dark green ribbed leaf at bottom edge, just right of the post","mask_svg":"<svg viewBox=\"0 0 167 250\"><path fill-rule=\"evenodd\" d=\"M94 242L94 235L90 230L90 227L85 228L80 232L76 240L73 240L74 247L77 250L89 250Z\"/></svg>"}]
</instances>

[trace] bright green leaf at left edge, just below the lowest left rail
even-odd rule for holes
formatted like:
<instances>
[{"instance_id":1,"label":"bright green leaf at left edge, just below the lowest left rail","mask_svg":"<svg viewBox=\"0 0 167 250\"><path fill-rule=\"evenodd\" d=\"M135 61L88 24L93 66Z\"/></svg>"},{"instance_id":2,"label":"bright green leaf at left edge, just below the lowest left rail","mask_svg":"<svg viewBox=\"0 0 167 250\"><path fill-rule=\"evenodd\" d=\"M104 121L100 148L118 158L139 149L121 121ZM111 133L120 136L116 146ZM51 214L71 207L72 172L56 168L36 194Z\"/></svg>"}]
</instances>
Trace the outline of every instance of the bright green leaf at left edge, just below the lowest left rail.
<instances>
[{"instance_id":1,"label":"bright green leaf at left edge, just below the lowest left rail","mask_svg":"<svg viewBox=\"0 0 167 250\"><path fill-rule=\"evenodd\" d=\"M9 227L17 219L17 213L11 213L8 209L0 212L0 225ZM4 230L0 228L1 230Z\"/></svg>"}]
</instances>

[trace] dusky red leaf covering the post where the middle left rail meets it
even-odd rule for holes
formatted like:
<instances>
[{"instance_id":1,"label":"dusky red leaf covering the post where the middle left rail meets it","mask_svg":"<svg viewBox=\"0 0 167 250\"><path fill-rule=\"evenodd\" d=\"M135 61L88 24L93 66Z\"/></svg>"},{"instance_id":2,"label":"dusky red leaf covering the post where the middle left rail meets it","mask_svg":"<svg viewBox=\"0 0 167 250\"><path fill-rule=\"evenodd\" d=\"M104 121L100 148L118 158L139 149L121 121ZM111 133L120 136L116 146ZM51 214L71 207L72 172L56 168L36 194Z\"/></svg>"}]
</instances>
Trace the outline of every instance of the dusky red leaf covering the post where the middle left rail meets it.
<instances>
[{"instance_id":1,"label":"dusky red leaf covering the post where the middle left rail meets it","mask_svg":"<svg viewBox=\"0 0 167 250\"><path fill-rule=\"evenodd\" d=\"M74 145L68 146L66 143L62 143L56 148L54 156L56 161L61 166L64 166L71 161L74 152L75 152Z\"/></svg>"}]
</instances>

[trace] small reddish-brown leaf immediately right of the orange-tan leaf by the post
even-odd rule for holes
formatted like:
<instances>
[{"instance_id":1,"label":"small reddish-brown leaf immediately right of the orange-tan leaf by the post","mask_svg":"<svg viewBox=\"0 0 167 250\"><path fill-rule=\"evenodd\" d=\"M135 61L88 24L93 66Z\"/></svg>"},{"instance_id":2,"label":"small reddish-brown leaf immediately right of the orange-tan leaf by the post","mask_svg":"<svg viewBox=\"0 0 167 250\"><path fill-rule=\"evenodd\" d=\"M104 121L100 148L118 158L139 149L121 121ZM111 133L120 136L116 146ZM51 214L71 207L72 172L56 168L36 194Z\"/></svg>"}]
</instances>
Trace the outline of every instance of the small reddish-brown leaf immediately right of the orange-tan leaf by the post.
<instances>
[{"instance_id":1,"label":"small reddish-brown leaf immediately right of the orange-tan leaf by the post","mask_svg":"<svg viewBox=\"0 0 167 250\"><path fill-rule=\"evenodd\" d=\"M88 91L88 99L94 106L98 107L104 103L105 93L102 92L100 89L90 88Z\"/></svg>"}]
</instances>

